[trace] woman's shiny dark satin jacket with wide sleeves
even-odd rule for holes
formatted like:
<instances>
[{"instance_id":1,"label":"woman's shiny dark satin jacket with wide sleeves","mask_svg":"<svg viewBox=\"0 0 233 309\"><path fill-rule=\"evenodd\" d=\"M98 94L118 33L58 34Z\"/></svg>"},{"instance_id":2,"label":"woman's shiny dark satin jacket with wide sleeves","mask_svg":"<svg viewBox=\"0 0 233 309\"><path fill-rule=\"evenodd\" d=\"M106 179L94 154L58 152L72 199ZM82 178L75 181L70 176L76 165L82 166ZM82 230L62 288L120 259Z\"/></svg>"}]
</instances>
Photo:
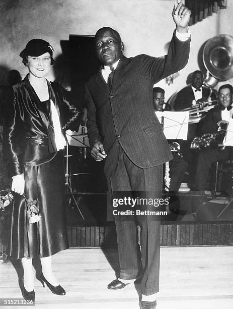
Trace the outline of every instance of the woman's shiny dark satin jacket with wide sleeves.
<instances>
[{"instance_id":1,"label":"woman's shiny dark satin jacket with wide sleeves","mask_svg":"<svg viewBox=\"0 0 233 309\"><path fill-rule=\"evenodd\" d=\"M58 112L62 130L79 129L79 111L71 106L65 97L65 90L59 83L47 81L49 98ZM49 131L49 117L31 86L28 76L13 86L13 105L9 114L9 160L12 176L24 171L24 165L38 165L55 155L54 136ZM49 133L50 132L50 133Z\"/></svg>"}]
</instances>

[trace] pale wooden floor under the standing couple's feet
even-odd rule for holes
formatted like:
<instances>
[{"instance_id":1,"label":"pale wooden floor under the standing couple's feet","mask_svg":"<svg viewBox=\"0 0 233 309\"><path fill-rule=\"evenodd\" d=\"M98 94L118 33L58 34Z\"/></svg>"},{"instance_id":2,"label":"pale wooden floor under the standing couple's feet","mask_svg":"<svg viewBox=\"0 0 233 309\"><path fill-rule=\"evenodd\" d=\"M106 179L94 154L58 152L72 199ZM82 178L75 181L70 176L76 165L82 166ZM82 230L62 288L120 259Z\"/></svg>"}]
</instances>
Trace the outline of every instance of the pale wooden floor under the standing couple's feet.
<instances>
[{"instance_id":1,"label":"pale wooden floor under the standing couple's feet","mask_svg":"<svg viewBox=\"0 0 233 309\"><path fill-rule=\"evenodd\" d=\"M139 285L106 288L118 269L116 249L68 249L54 256L53 265L66 295L35 280L36 308L139 308ZM1 298L22 297L17 273L22 276L19 263L0 265ZM233 247L161 248L160 290L157 309L232 309Z\"/></svg>"}]
</instances>

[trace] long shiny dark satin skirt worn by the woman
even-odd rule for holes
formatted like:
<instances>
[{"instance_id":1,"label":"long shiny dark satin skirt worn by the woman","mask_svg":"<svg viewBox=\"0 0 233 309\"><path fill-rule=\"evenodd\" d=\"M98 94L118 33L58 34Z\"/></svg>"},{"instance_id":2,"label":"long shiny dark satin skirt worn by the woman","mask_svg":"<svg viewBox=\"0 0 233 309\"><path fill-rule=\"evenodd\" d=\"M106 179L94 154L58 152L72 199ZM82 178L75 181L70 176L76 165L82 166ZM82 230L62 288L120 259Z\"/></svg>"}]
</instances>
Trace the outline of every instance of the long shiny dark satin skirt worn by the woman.
<instances>
[{"instance_id":1,"label":"long shiny dark satin skirt worn by the woman","mask_svg":"<svg viewBox=\"0 0 233 309\"><path fill-rule=\"evenodd\" d=\"M47 163L25 165L24 177L24 195L29 202L37 200L41 219L28 224L25 198L14 194L8 254L13 259L33 259L67 249L64 151L58 151Z\"/></svg>"}]
</instances>

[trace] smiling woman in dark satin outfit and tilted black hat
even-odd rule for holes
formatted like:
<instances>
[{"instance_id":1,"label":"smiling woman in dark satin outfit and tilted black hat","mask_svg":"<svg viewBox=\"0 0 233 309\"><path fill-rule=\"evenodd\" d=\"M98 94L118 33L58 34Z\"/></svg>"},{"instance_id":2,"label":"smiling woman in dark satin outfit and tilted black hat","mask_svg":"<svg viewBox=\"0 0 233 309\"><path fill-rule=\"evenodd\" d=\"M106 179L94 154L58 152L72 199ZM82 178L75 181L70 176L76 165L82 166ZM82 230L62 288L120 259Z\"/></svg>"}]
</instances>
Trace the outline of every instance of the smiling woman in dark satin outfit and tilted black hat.
<instances>
[{"instance_id":1,"label":"smiling woman in dark satin outfit and tilted black hat","mask_svg":"<svg viewBox=\"0 0 233 309\"><path fill-rule=\"evenodd\" d=\"M68 248L62 131L78 129L79 112L66 100L61 85L45 77L54 62L51 44L30 40L20 57L29 74L13 86L9 157L15 193L8 253L21 259L22 294L34 301L32 259L36 256L43 286L65 295L53 275L51 255Z\"/></svg>"}]
</instances>

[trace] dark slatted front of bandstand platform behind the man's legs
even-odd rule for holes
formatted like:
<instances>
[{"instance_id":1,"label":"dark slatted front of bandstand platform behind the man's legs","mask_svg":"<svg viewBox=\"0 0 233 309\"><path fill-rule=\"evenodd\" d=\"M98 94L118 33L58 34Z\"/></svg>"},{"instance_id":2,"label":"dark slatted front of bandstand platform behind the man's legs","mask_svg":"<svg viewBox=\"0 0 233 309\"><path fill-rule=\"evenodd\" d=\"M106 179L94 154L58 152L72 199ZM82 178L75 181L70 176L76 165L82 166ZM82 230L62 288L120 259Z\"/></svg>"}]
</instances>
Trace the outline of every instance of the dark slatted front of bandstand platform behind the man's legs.
<instances>
[{"instance_id":1,"label":"dark slatted front of bandstand platform behind the man's legs","mask_svg":"<svg viewBox=\"0 0 233 309\"><path fill-rule=\"evenodd\" d=\"M68 227L71 247L116 247L115 226ZM161 225L161 246L233 245L233 222Z\"/></svg>"}]
</instances>

